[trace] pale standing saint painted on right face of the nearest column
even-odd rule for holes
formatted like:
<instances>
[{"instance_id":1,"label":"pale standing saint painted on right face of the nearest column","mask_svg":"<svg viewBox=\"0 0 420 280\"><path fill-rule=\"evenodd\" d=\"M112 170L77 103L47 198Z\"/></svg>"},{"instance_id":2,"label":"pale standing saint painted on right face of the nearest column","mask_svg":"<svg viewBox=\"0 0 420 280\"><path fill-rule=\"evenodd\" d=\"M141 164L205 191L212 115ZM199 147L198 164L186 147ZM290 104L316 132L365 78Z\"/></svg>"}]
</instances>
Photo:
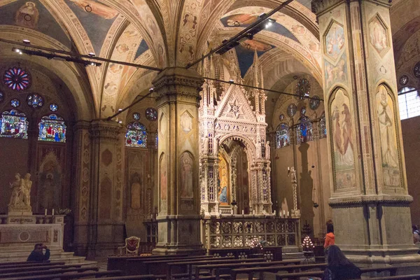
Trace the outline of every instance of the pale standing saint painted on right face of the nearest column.
<instances>
[{"instance_id":1,"label":"pale standing saint painted on right face of the nearest column","mask_svg":"<svg viewBox=\"0 0 420 280\"><path fill-rule=\"evenodd\" d=\"M377 110L381 133L382 166L398 167L392 100L388 97L388 92L383 85L379 87L377 93Z\"/></svg>"}]
</instances>

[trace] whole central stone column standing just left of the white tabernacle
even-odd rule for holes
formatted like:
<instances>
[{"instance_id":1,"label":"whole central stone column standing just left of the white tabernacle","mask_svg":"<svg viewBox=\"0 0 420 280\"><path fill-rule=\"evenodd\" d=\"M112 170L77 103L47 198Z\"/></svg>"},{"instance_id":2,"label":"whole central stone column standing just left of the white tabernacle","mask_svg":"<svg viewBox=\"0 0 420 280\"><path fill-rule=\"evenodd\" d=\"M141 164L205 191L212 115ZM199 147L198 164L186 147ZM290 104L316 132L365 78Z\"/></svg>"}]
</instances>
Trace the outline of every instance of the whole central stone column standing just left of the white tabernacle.
<instances>
[{"instance_id":1,"label":"whole central stone column standing just left of the white tabernacle","mask_svg":"<svg viewBox=\"0 0 420 280\"><path fill-rule=\"evenodd\" d=\"M201 76L167 68L153 80L158 103L159 237L153 253L202 254L198 107Z\"/></svg>"}]
</instances>

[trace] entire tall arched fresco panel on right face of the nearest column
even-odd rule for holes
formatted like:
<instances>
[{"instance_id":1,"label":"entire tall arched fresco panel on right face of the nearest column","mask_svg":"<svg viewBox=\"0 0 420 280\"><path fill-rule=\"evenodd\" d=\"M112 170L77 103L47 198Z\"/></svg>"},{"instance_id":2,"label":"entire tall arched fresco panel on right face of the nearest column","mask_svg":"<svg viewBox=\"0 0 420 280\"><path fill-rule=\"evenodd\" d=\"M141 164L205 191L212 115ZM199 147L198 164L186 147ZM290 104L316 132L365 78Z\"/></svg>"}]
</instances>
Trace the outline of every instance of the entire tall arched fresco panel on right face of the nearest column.
<instances>
[{"instance_id":1,"label":"entire tall arched fresco panel on right face of the nearest column","mask_svg":"<svg viewBox=\"0 0 420 280\"><path fill-rule=\"evenodd\" d=\"M379 86L376 95L379 132L381 134L382 170L385 186L400 186L400 164L398 159L397 135L393 100L384 85Z\"/></svg>"}]
</instances>

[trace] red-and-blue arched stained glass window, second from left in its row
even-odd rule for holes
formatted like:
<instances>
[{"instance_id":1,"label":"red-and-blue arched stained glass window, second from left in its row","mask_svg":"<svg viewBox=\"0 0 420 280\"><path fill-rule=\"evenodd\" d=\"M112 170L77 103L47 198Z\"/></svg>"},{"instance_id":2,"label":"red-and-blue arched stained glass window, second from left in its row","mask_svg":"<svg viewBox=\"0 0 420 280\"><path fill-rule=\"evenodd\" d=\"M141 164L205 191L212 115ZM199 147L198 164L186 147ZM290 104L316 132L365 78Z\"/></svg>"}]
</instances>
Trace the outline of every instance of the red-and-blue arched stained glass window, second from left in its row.
<instances>
[{"instance_id":1,"label":"red-and-blue arched stained glass window, second from left in its row","mask_svg":"<svg viewBox=\"0 0 420 280\"><path fill-rule=\"evenodd\" d=\"M57 115L42 117L38 128L39 141L66 142L66 125L64 125L64 120Z\"/></svg>"}]
</instances>

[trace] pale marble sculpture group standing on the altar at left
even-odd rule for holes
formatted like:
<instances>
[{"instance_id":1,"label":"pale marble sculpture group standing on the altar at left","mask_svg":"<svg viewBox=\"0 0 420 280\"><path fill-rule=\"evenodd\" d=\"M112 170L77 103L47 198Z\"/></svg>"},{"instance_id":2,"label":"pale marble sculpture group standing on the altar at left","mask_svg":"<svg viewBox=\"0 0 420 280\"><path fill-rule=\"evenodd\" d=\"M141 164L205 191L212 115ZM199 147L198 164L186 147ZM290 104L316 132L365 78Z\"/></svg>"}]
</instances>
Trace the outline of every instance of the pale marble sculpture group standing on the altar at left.
<instances>
[{"instance_id":1,"label":"pale marble sculpture group standing on the altar at left","mask_svg":"<svg viewBox=\"0 0 420 280\"><path fill-rule=\"evenodd\" d=\"M15 181L10 183L12 195L8 204L8 212L19 212L20 214L27 214L31 212L31 174L27 173L25 177L21 178L20 174L15 174Z\"/></svg>"}]
</instances>

